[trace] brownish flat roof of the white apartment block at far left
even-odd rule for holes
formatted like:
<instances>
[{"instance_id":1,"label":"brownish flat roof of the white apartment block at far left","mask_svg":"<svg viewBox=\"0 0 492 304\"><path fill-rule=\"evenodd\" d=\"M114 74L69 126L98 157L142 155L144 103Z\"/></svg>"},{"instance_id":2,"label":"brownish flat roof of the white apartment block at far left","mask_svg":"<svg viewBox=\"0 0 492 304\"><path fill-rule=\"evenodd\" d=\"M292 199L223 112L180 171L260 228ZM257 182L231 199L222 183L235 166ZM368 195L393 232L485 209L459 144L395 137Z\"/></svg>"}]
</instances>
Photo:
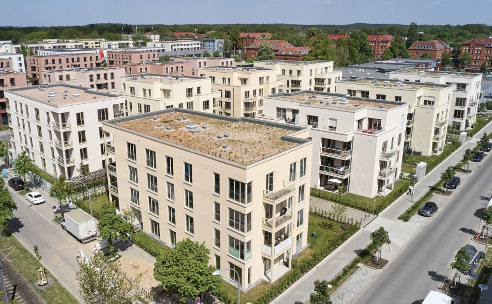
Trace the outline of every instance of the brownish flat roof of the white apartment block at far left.
<instances>
[{"instance_id":1,"label":"brownish flat roof of the white apartment block at far left","mask_svg":"<svg viewBox=\"0 0 492 304\"><path fill-rule=\"evenodd\" d=\"M67 106L71 104L120 97L120 95L117 94L99 92L93 88L66 83L24 86L8 89L5 91L55 106ZM63 98L64 94L67 95L66 99ZM76 96L73 96L74 94Z\"/></svg>"}]
</instances>

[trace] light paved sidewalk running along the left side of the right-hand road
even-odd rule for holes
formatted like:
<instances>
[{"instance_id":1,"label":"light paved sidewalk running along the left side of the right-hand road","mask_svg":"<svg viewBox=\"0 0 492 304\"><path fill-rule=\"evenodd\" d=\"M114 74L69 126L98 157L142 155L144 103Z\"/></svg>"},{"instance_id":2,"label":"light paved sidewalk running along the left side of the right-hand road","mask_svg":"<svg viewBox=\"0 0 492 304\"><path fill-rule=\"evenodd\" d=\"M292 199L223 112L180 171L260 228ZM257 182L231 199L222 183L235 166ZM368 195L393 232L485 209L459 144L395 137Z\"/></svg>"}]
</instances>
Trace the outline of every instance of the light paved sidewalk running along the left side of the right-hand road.
<instances>
[{"instance_id":1,"label":"light paved sidewalk running along the left side of the right-hand road","mask_svg":"<svg viewBox=\"0 0 492 304\"><path fill-rule=\"evenodd\" d=\"M416 190L413 194L413 200L416 201L427 193L431 186L440 180L441 172L443 172L448 166L455 166L459 163L462 159L464 151L466 149L474 148L484 132L487 132L487 134L492 132L492 122L489 123L484 130L481 130L475 134L473 138L470 138L470 140L458 148L439 166L435 167L421 181L417 182L415 185ZM470 162L470 169L473 170L476 166L480 166L480 163ZM458 174L462 176L461 178L466 178L466 173ZM438 205L445 203L446 196L437 196L440 197L435 197L436 200L442 200L442 202L437 202ZM310 293L314 292L314 281L317 279L331 280L335 277L338 272L346 266L361 249L364 249L369 245L370 233L380 226L383 226L386 230L388 230L390 239L393 242L391 245L385 246L382 249L382 254L388 254L386 256L391 260L391 258L396 256L401 249L404 248L408 241L410 241L410 239L427 222L425 218L420 216L414 216L408 222L398 220L400 214L402 214L411 205L410 201L410 195L403 194L400 196L390 206L383 210L378 217L376 217L366 227L359 230L349 240L328 255L315 268L280 294L274 301L272 301L272 303L305 303L309 299ZM370 282L370 280L367 281ZM344 285L346 285L345 288L350 290L354 287L350 284Z\"/></svg>"}]
</instances>

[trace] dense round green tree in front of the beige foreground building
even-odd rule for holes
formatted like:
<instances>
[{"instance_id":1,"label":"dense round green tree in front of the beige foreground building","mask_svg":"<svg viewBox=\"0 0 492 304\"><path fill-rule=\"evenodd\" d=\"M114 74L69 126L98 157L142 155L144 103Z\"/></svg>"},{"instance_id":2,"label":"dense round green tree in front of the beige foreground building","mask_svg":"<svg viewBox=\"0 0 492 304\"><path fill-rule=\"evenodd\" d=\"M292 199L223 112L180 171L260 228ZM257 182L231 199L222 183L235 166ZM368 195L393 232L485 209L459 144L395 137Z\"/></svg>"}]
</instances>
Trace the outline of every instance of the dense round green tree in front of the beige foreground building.
<instances>
[{"instance_id":1,"label":"dense round green tree in front of the beige foreground building","mask_svg":"<svg viewBox=\"0 0 492 304\"><path fill-rule=\"evenodd\" d=\"M181 302L186 301L187 295L195 297L202 291L214 293L221 288L222 282L212 275L215 267L209 265L209 255L205 243L187 238L157 258L154 277L170 294L178 294Z\"/></svg>"}]
</instances>

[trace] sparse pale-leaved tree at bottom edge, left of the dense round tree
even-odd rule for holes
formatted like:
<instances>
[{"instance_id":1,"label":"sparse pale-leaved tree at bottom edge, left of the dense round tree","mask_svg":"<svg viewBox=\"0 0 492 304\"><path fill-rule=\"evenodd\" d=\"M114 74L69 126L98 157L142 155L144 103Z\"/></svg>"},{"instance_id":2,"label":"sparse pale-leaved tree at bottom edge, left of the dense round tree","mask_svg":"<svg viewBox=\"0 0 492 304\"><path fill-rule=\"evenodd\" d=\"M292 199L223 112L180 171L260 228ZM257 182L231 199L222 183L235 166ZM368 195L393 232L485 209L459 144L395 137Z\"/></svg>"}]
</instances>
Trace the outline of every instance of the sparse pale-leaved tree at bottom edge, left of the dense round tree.
<instances>
[{"instance_id":1,"label":"sparse pale-leaved tree at bottom edge, left of the dense round tree","mask_svg":"<svg viewBox=\"0 0 492 304\"><path fill-rule=\"evenodd\" d=\"M125 279L120 262L111 262L103 254L95 254L90 260L79 260L79 271L75 278L79 292L88 304L138 303L142 274L133 276L131 282ZM182 265L183 266L183 265Z\"/></svg>"}]
</instances>

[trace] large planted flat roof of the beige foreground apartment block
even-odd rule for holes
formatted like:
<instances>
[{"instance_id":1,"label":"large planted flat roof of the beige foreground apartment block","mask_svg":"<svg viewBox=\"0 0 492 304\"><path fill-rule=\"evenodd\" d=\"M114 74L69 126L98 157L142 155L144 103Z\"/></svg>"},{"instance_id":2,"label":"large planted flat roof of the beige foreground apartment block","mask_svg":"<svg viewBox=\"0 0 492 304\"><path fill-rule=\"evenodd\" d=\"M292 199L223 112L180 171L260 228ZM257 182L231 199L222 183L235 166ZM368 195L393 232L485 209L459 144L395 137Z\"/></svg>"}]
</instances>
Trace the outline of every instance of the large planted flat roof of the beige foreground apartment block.
<instances>
[{"instance_id":1,"label":"large planted flat roof of the beige foreground apartment block","mask_svg":"<svg viewBox=\"0 0 492 304\"><path fill-rule=\"evenodd\" d=\"M156 138L163 143L173 143L241 165L254 163L310 141L288 136L303 130L303 127L185 109L166 109L127 116L106 121L104 124L115 125L136 134ZM161 127L158 127L159 124ZM168 126L171 130L167 130ZM226 133L228 135L224 137Z\"/></svg>"}]
</instances>

